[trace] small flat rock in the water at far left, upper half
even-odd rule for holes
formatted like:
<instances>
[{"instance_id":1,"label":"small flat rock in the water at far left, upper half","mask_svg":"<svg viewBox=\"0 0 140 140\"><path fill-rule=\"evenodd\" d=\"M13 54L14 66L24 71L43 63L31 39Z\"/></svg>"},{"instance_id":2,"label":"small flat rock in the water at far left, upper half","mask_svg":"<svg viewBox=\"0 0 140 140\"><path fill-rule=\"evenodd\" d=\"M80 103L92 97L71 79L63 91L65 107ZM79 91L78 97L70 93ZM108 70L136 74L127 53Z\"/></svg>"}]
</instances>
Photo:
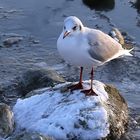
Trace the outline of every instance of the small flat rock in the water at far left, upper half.
<instances>
[{"instance_id":1,"label":"small flat rock in the water at far left, upper half","mask_svg":"<svg viewBox=\"0 0 140 140\"><path fill-rule=\"evenodd\" d=\"M11 47L14 44L18 44L22 40L22 37L9 37L3 41L3 45L5 47Z\"/></svg>"}]
</instances>

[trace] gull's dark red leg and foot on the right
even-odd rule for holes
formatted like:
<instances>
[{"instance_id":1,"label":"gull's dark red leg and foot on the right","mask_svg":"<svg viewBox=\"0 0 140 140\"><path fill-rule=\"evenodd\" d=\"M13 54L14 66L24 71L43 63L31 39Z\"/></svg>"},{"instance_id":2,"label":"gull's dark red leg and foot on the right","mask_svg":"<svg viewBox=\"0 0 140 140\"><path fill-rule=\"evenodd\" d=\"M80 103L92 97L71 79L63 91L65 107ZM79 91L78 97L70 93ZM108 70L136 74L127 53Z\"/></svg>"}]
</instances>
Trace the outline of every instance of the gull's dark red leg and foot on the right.
<instances>
[{"instance_id":1,"label":"gull's dark red leg and foot on the right","mask_svg":"<svg viewBox=\"0 0 140 140\"><path fill-rule=\"evenodd\" d=\"M91 69L91 87L90 89L87 90L82 90L81 92L83 92L86 96L98 96L94 90L93 90L93 68Z\"/></svg>"}]
</instances>

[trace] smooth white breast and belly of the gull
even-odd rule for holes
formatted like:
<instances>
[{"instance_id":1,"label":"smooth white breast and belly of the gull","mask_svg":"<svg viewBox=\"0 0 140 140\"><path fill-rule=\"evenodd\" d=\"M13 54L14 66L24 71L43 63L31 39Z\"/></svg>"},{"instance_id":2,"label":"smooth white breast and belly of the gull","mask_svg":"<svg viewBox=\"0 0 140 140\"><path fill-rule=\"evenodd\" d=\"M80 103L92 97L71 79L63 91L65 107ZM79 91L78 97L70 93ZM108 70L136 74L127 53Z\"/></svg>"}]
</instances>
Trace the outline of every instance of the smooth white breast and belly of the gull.
<instances>
[{"instance_id":1,"label":"smooth white breast and belly of the gull","mask_svg":"<svg viewBox=\"0 0 140 140\"><path fill-rule=\"evenodd\" d=\"M78 37L78 36L77 36ZM82 37L66 37L61 34L57 41L60 55L68 63L76 66L92 67L96 62L88 54L89 45Z\"/></svg>"}]
</instances>

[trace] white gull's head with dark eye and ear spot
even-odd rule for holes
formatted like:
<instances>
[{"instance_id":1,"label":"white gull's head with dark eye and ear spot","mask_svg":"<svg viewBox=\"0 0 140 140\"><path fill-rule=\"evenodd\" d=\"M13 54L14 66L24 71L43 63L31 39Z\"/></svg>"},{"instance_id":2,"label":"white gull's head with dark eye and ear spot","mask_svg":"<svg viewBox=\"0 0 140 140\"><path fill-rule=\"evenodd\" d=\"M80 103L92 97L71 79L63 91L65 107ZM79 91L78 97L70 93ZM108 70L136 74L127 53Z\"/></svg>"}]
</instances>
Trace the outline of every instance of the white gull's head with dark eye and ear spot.
<instances>
[{"instance_id":1,"label":"white gull's head with dark eye and ear spot","mask_svg":"<svg viewBox=\"0 0 140 140\"><path fill-rule=\"evenodd\" d=\"M84 26L83 26L82 22L77 17L75 17L75 16L67 17L64 20L63 39L65 37L79 34L82 31L83 27Z\"/></svg>"}]
</instances>

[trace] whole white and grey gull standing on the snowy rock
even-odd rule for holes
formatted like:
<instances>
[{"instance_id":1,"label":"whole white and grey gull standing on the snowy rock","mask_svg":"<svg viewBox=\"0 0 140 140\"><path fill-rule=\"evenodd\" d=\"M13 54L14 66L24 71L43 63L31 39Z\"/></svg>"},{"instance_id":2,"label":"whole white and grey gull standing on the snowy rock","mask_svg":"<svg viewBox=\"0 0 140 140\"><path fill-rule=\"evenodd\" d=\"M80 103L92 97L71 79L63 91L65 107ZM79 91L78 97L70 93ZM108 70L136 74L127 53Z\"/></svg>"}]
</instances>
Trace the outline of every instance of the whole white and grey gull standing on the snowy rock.
<instances>
[{"instance_id":1,"label":"whole white and grey gull standing on the snowy rock","mask_svg":"<svg viewBox=\"0 0 140 140\"><path fill-rule=\"evenodd\" d=\"M132 49L124 49L119 42L100 30L85 27L76 16L69 16L64 20L63 31L57 40L57 49L65 61L80 67L79 82L69 89L82 89L81 92L86 96L98 96L93 90L93 67L123 55L132 56ZM83 89L83 68L91 69L89 89Z\"/></svg>"}]
</instances>

